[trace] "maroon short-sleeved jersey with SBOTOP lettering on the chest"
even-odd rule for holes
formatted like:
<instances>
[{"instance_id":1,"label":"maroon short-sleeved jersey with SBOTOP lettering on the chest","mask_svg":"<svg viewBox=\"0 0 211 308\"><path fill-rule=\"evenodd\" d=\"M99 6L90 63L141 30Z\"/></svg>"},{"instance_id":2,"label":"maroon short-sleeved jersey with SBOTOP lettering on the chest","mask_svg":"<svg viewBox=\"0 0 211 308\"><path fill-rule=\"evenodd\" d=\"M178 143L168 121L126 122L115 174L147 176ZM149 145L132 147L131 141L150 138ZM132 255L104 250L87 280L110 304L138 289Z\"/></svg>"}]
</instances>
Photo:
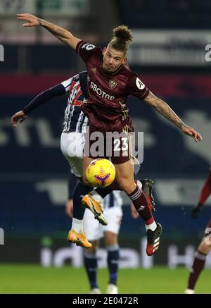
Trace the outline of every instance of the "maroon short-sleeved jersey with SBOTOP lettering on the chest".
<instances>
[{"instance_id":1,"label":"maroon short-sleeved jersey with SBOTOP lettering on the chest","mask_svg":"<svg viewBox=\"0 0 211 308\"><path fill-rule=\"evenodd\" d=\"M128 95L144 99L149 93L139 75L127 66L106 74L102 67L101 47L80 41L76 51L87 64L89 98L82 104L82 111L89 118L90 125L103 132L121 132L125 125L131 127L126 104Z\"/></svg>"}]
</instances>

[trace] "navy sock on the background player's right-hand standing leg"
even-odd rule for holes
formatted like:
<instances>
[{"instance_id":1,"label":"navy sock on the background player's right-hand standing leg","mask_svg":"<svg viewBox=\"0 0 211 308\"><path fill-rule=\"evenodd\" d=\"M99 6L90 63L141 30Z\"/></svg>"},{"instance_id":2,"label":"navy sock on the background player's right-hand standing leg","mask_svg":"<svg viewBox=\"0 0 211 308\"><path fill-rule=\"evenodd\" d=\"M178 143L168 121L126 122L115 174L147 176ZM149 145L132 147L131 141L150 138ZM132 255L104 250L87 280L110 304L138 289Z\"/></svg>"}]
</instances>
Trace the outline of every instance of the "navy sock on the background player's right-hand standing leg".
<instances>
[{"instance_id":1,"label":"navy sock on the background player's right-hand standing leg","mask_svg":"<svg viewBox=\"0 0 211 308\"><path fill-rule=\"evenodd\" d=\"M119 269L120 250L118 245L108 246L108 270L109 270L109 283L117 284L117 276Z\"/></svg>"}]
</instances>

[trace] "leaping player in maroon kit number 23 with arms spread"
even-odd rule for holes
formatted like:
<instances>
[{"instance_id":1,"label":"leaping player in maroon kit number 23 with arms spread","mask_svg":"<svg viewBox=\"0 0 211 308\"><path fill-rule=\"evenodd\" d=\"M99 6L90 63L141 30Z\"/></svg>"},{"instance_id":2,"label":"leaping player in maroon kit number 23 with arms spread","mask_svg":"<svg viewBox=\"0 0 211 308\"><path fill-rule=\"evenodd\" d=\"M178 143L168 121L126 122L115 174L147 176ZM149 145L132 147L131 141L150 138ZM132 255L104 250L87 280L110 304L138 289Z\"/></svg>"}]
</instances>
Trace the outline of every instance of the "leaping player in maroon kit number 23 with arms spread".
<instances>
[{"instance_id":1,"label":"leaping player in maroon kit number 23 with arms spread","mask_svg":"<svg viewBox=\"0 0 211 308\"><path fill-rule=\"evenodd\" d=\"M202 137L196 130L185 125L165 101L155 97L141 82L139 75L126 66L127 51L133 39L132 32L128 27L124 25L116 27L113 30L113 39L102 50L100 47L95 47L82 39L78 39L68 30L29 13L18 14L17 18L27 21L27 23L23 24L23 27L45 27L62 42L75 49L86 63L89 97L82 105L82 111L89 118L89 136L91 136L91 133L101 132L103 144L106 144L106 146L111 145L112 154L110 159L115 164L116 178L115 183L109 188L110 190L123 190L132 200L139 215L146 222L146 253L148 255L154 254L160 244L162 227L160 223L155 223L148 198L141 190L141 187L134 182L134 166L131 162L132 152L129 150L131 148L129 133L133 131L133 127L125 104L128 95L132 94L146 101L162 116L177 125L183 133L193 137L195 141L201 140ZM107 132L120 134L117 140L118 147L115 147L115 138L109 140L111 144L107 142ZM87 143L92 145L91 139ZM107 157L106 150L101 156ZM94 156L91 152L87 155L86 152L83 159L84 183L88 183L85 175L87 166L97 157L99 156ZM109 193L109 190L106 191L107 193ZM101 217L101 219L98 219L99 221L103 221L101 201L102 197L98 195L97 190L93 190L82 199L82 204L89 208L97 219ZM106 218L104 223L106 223ZM68 240L74 241L75 237L77 237L75 230L70 230Z\"/></svg>"}]
</instances>

